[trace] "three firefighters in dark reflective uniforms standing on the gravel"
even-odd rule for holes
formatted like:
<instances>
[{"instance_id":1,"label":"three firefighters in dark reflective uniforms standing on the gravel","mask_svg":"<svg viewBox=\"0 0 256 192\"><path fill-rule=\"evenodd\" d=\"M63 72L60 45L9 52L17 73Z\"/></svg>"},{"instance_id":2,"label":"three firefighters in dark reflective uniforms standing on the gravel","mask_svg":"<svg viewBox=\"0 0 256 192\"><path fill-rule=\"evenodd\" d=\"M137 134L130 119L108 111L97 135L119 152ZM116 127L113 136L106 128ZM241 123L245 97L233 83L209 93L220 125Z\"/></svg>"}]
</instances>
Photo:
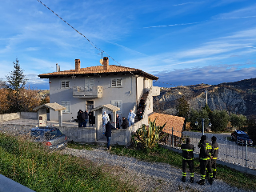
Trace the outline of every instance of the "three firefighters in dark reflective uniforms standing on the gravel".
<instances>
[{"instance_id":1,"label":"three firefighters in dark reflective uniforms standing on the gravel","mask_svg":"<svg viewBox=\"0 0 256 192\"><path fill-rule=\"evenodd\" d=\"M197 183L204 185L206 175L209 176L210 185L213 184L216 177L216 160L218 158L218 142L213 136L212 142L206 140L206 135L202 135L198 147L200 148L199 162L201 179ZM190 138L186 138L186 144L182 144L182 182L186 182L186 165L190 168L190 182L194 182L194 146L190 144Z\"/></svg>"}]
</instances>

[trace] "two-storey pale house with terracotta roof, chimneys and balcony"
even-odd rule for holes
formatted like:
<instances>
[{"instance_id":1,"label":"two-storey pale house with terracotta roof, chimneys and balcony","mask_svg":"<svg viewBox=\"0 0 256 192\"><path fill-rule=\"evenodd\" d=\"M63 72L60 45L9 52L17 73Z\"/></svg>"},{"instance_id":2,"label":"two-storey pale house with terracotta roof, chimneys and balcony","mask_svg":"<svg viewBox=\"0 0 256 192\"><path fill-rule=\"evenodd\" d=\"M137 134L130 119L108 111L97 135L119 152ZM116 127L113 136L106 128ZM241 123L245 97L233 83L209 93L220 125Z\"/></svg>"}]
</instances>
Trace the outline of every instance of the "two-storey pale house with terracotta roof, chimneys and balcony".
<instances>
[{"instance_id":1,"label":"two-storey pale house with terracotta roof, chimneys and balcony","mask_svg":"<svg viewBox=\"0 0 256 192\"><path fill-rule=\"evenodd\" d=\"M63 121L76 118L78 110L90 110L97 106L112 104L121 110L118 114L128 116L130 109L136 110L140 98L150 91L150 104L147 114L153 112L153 97L160 94L159 87L153 87L152 74L125 66L109 65L109 59L103 58L102 66L80 68L80 59L75 59L74 70L39 74L40 78L49 78L50 102L65 106ZM58 120L58 112L50 110L50 120Z\"/></svg>"}]
</instances>

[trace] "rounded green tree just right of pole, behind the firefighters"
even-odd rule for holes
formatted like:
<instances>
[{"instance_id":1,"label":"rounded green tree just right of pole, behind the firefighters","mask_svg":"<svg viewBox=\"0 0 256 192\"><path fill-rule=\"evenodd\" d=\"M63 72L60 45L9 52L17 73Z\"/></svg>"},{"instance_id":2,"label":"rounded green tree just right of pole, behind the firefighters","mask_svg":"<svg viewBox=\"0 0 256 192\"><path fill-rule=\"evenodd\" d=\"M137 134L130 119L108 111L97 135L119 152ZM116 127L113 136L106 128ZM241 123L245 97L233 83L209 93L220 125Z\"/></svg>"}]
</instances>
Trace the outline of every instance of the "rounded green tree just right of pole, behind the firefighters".
<instances>
[{"instance_id":1,"label":"rounded green tree just right of pole, behind the firefighters","mask_svg":"<svg viewBox=\"0 0 256 192\"><path fill-rule=\"evenodd\" d=\"M214 110L210 114L211 130L225 130L229 120L230 116L227 114L226 110Z\"/></svg>"}]
</instances>

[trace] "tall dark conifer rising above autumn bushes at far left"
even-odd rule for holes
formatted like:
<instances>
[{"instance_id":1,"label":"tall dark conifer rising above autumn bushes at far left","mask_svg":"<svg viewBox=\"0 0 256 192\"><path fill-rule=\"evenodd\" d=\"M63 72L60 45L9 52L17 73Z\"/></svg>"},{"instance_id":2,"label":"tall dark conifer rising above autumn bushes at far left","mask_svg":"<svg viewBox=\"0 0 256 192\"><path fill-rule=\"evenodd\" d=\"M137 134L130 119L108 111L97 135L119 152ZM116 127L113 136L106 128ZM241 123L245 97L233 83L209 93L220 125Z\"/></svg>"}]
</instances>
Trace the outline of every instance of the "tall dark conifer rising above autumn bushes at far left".
<instances>
[{"instance_id":1,"label":"tall dark conifer rising above autumn bushes at far left","mask_svg":"<svg viewBox=\"0 0 256 192\"><path fill-rule=\"evenodd\" d=\"M6 76L8 88L16 91L18 91L19 89L23 89L27 81L25 75L23 74L23 70L18 62L18 58L16 58L16 62L14 62L14 70L10 72L9 76Z\"/></svg>"}]
</instances>

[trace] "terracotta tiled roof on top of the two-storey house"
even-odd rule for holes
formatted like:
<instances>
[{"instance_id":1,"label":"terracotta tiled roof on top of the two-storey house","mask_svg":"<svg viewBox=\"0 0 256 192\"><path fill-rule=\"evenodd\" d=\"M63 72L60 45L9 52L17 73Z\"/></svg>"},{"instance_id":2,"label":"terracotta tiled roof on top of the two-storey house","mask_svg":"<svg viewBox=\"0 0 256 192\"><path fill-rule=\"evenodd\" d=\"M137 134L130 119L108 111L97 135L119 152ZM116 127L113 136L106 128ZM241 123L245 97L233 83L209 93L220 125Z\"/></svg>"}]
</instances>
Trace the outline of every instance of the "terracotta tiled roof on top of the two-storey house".
<instances>
[{"instance_id":1,"label":"terracotta tiled roof on top of the two-storey house","mask_svg":"<svg viewBox=\"0 0 256 192\"><path fill-rule=\"evenodd\" d=\"M132 74L138 74L141 76L145 76L147 78L158 80L158 77L148 74L142 70L138 70L135 68L130 68L126 66L114 66L110 65L109 70L104 70L104 66L90 66L86 68L81 68L79 71L75 70L64 70L59 72L53 72L48 74L39 74L38 77L40 78L51 78L54 76L70 76L73 74L110 74L110 73L132 73Z\"/></svg>"}]
</instances>

